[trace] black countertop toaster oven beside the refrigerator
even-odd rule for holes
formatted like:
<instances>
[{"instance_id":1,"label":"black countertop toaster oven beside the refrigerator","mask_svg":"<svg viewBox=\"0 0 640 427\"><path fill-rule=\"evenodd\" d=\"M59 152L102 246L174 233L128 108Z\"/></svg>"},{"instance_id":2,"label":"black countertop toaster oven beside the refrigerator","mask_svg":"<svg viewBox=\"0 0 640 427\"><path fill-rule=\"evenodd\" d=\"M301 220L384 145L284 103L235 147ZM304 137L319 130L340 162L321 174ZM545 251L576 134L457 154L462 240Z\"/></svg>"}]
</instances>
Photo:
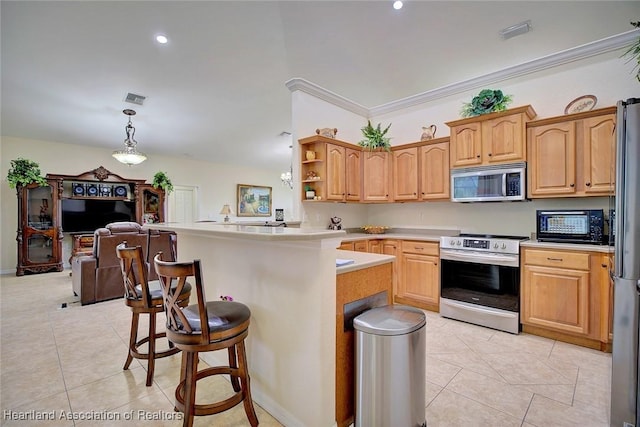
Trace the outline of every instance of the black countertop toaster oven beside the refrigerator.
<instances>
[{"instance_id":1,"label":"black countertop toaster oven beside the refrigerator","mask_svg":"<svg viewBox=\"0 0 640 427\"><path fill-rule=\"evenodd\" d=\"M536 235L541 242L604 244L604 210L538 210Z\"/></svg>"}]
</instances>

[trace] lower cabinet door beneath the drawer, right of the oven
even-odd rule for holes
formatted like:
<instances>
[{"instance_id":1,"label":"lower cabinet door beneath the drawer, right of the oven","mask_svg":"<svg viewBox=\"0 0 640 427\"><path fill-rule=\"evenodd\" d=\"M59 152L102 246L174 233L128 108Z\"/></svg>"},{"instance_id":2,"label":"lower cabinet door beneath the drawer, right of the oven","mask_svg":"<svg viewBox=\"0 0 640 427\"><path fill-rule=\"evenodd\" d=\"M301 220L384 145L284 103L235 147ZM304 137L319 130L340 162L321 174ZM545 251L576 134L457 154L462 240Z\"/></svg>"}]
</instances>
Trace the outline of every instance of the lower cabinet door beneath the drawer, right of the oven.
<instances>
[{"instance_id":1,"label":"lower cabinet door beneath the drawer, right of the oven","mask_svg":"<svg viewBox=\"0 0 640 427\"><path fill-rule=\"evenodd\" d=\"M589 335L589 272L525 265L522 323Z\"/></svg>"}]
</instances>

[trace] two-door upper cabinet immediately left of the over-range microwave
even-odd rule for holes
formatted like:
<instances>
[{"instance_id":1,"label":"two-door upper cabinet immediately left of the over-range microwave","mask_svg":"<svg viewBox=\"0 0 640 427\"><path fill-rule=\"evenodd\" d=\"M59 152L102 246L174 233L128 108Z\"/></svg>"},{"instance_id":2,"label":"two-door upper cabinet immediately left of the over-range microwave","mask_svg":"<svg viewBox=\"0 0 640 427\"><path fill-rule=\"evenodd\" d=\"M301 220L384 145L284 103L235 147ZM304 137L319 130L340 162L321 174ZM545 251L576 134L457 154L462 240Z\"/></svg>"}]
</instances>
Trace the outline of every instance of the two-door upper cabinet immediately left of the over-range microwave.
<instances>
[{"instance_id":1,"label":"two-door upper cabinet immediately left of the over-range microwave","mask_svg":"<svg viewBox=\"0 0 640 427\"><path fill-rule=\"evenodd\" d=\"M449 199L449 138L392 148L393 200Z\"/></svg>"}]
</instances>

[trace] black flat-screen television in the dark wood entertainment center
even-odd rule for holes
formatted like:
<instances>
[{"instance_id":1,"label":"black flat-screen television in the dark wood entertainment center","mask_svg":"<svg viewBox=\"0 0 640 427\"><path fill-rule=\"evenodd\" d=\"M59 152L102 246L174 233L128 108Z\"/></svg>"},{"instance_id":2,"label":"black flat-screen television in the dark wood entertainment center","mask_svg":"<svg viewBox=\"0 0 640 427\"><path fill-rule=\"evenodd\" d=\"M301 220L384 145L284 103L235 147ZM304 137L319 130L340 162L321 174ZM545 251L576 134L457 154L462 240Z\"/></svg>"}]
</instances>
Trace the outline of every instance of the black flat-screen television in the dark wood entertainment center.
<instances>
[{"instance_id":1,"label":"black flat-screen television in the dark wood entertainment center","mask_svg":"<svg viewBox=\"0 0 640 427\"><path fill-rule=\"evenodd\" d=\"M62 199L62 231L93 233L111 222L136 222L136 204L124 200Z\"/></svg>"}]
</instances>

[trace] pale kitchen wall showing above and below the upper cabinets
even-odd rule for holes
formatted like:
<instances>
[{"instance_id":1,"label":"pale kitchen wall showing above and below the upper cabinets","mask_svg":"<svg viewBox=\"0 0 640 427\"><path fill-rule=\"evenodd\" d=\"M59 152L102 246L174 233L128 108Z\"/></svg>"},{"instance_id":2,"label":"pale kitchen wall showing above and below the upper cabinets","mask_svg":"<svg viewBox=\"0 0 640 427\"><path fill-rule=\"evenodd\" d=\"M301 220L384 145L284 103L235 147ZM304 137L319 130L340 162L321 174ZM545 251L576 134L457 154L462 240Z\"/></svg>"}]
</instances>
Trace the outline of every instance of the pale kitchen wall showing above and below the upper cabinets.
<instances>
[{"instance_id":1,"label":"pale kitchen wall showing above and below the upper cabinets","mask_svg":"<svg viewBox=\"0 0 640 427\"><path fill-rule=\"evenodd\" d=\"M486 88L501 89L513 96L511 107L530 104L536 110L536 118L564 114L565 106L573 99L593 94L598 98L596 108L615 105L620 99L639 96L638 82L634 79L632 65L617 54L606 54L599 58L575 61L554 69L520 76L493 84ZM422 126L435 124L436 137L449 135L447 121L458 120L460 109L469 102L480 89L455 96L441 98L412 108L371 118L372 123L391 123L389 136L392 145L402 145L420 140ZM295 94L295 93L294 93ZM311 95L306 95L312 97ZM311 103L310 101L307 101ZM330 107L324 101L317 101L309 115L320 117ZM337 107L333 107L337 108ZM335 112L332 113L334 116ZM309 116L305 117L309 119ZM302 120L302 118L301 118ZM316 119L317 121L317 119ZM330 120L324 126L334 127ZM343 135L353 135L345 141L356 143L361 135L359 128L366 124L366 118L345 123L350 127L340 129ZM335 126L337 127L337 126ZM303 136L308 136L305 134ZM297 194L297 193L296 193ZM388 226L410 226L424 228L454 228L464 232L501 233L529 236L535 231L536 209L608 209L608 199L604 197L544 199L529 202L471 203L418 202L365 205L307 204L306 218L316 225L328 225L329 217L337 214L343 218L345 227L364 224Z\"/></svg>"}]
</instances>

